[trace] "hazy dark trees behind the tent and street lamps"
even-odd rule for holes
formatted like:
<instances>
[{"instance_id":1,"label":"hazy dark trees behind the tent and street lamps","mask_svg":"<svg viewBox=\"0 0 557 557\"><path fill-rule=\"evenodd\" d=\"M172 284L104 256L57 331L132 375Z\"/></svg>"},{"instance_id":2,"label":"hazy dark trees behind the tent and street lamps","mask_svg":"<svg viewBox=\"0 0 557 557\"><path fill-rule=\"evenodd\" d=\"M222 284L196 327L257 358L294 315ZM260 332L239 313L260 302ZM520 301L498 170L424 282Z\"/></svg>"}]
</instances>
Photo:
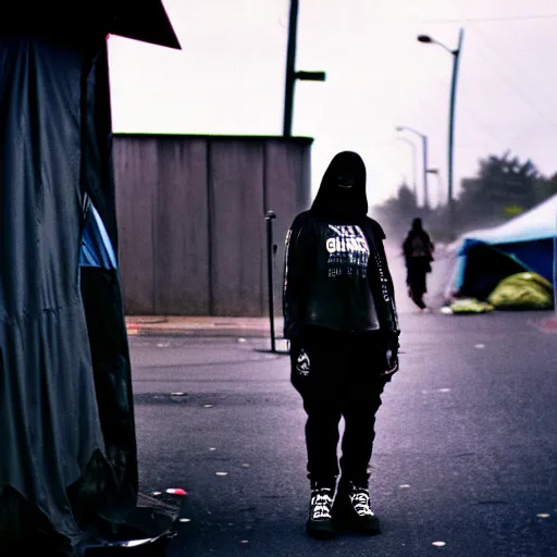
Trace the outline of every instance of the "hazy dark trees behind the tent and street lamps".
<instances>
[{"instance_id":1,"label":"hazy dark trees behind the tent and street lamps","mask_svg":"<svg viewBox=\"0 0 557 557\"><path fill-rule=\"evenodd\" d=\"M555 194L557 172L544 176L531 160L522 162L505 151L481 159L476 175L461 181L450 222L446 202L434 209L419 207L407 184L400 185L396 196L373 207L371 214L391 237L403 237L412 219L420 216L434 238L449 242L474 228L503 224Z\"/></svg>"}]
</instances>

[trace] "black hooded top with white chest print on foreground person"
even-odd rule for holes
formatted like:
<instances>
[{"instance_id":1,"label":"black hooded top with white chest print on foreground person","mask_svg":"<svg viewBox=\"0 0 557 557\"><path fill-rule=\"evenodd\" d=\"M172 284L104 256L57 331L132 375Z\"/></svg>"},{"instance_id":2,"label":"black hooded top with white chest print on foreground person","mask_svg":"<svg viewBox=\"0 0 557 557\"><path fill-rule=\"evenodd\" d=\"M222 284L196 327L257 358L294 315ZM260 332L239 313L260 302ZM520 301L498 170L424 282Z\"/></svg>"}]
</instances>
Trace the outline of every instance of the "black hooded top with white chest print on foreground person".
<instances>
[{"instance_id":1,"label":"black hooded top with white chest print on foreground person","mask_svg":"<svg viewBox=\"0 0 557 557\"><path fill-rule=\"evenodd\" d=\"M351 178L351 187L338 177ZM306 326L398 335L394 287L377 222L367 216L366 166L351 151L334 157L309 209L287 237L284 335Z\"/></svg>"}]
</instances>

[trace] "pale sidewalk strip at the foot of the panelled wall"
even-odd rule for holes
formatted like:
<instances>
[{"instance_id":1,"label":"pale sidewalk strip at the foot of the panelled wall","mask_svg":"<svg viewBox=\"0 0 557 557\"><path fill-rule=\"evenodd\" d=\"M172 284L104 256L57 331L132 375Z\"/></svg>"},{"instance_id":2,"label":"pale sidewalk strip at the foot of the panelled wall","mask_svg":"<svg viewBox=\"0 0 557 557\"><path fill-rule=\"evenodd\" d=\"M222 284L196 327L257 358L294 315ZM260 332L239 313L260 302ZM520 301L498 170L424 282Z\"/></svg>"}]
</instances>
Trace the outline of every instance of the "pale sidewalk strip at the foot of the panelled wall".
<instances>
[{"instance_id":1,"label":"pale sidewalk strip at the foot of the panelled wall","mask_svg":"<svg viewBox=\"0 0 557 557\"><path fill-rule=\"evenodd\" d=\"M271 336L270 318L127 315L128 335L148 336ZM274 320L275 338L283 336L283 319Z\"/></svg>"}]
</instances>

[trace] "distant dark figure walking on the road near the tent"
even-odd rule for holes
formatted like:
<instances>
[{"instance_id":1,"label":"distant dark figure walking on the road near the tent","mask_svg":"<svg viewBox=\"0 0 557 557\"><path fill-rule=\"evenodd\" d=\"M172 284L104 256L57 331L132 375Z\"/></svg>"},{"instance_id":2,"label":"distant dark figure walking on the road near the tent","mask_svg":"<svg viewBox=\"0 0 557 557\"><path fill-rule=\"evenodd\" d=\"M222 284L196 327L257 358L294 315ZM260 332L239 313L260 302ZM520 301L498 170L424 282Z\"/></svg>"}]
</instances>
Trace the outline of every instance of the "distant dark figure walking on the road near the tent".
<instances>
[{"instance_id":1,"label":"distant dark figure walking on the road near the tent","mask_svg":"<svg viewBox=\"0 0 557 557\"><path fill-rule=\"evenodd\" d=\"M408 296L423 311L429 309L423 301L423 295L428 292L426 275L431 272L434 249L430 235L423 230L422 220L414 219L403 244L403 250L407 269Z\"/></svg>"}]
</instances>

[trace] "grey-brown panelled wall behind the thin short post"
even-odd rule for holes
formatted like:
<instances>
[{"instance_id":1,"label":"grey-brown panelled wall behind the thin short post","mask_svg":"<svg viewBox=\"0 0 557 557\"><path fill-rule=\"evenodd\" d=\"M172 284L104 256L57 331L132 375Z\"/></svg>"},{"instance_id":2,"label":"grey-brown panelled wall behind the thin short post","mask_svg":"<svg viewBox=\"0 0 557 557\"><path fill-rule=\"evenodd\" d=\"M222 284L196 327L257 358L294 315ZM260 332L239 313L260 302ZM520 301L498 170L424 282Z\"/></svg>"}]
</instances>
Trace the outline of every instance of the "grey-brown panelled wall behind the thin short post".
<instances>
[{"instance_id":1,"label":"grey-brown panelled wall behind the thin short post","mask_svg":"<svg viewBox=\"0 0 557 557\"><path fill-rule=\"evenodd\" d=\"M284 238L310 202L309 138L114 134L127 314L268 314L272 210L280 314Z\"/></svg>"}]
</instances>

